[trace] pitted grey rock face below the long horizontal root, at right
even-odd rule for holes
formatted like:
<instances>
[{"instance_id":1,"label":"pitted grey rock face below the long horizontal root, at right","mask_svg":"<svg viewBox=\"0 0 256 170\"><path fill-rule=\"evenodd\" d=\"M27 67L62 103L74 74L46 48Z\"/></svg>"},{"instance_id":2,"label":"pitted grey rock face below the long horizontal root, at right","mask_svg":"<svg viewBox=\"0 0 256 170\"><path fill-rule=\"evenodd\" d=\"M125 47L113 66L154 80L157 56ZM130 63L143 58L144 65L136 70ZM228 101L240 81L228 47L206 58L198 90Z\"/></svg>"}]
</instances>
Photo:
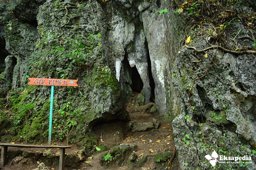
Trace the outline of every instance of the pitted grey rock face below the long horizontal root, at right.
<instances>
[{"instance_id":1,"label":"pitted grey rock face below the long horizontal root, at right","mask_svg":"<svg viewBox=\"0 0 256 170\"><path fill-rule=\"evenodd\" d=\"M198 40L189 46L207 47L207 42ZM192 51L181 48L173 66L172 83L179 91L180 114L172 126L181 168L207 169L209 161L204 156L211 155L211 150L226 156L248 155L255 160L255 57L221 50L215 54L214 49L207 51L211 58L215 56L207 69L211 60L202 57L202 62L191 62L197 60ZM221 164L224 169L239 166ZM255 162L243 166L248 170L255 167Z\"/></svg>"}]
</instances>

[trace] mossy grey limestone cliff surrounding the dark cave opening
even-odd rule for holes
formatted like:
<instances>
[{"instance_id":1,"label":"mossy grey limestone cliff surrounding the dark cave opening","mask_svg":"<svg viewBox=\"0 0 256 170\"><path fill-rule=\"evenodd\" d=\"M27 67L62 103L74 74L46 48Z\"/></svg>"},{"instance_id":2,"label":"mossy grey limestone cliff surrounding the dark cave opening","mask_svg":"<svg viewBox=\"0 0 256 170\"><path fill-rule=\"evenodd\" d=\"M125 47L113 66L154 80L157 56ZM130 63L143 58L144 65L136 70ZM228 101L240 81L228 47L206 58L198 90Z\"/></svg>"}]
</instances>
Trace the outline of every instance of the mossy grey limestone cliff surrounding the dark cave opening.
<instances>
[{"instance_id":1,"label":"mossy grey limestone cliff surrounding the dark cave opening","mask_svg":"<svg viewBox=\"0 0 256 170\"><path fill-rule=\"evenodd\" d=\"M205 1L181 0L4 4L0 105L12 108L12 119L5 117L2 124L10 135L24 133L24 124L31 125L26 140L45 137L50 90L27 86L27 78L78 79L77 88L55 89L53 133L58 140L73 135L82 145L91 145L94 140L85 138L88 127L128 120L124 104L140 93L136 105L154 101L152 113L157 110L173 119L181 169L209 169L204 156L213 150L254 160L222 168L256 169L256 33L255 11L250 9L255 4L207 2L215 11L197 8ZM222 6L227 10L219 10ZM243 12L248 17L241 20ZM215 13L218 21L209 23L207 17Z\"/></svg>"}]
</instances>

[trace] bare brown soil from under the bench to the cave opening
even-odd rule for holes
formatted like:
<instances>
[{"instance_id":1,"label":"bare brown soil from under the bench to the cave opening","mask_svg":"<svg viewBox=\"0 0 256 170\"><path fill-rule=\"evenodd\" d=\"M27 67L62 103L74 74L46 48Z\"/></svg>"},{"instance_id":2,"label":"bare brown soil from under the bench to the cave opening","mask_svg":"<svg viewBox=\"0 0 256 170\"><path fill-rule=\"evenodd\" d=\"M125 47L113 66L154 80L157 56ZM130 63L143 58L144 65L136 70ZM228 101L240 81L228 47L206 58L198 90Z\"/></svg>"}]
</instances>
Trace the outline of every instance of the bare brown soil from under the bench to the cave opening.
<instances>
[{"instance_id":1,"label":"bare brown soil from under the bench to the cave opening","mask_svg":"<svg viewBox=\"0 0 256 170\"><path fill-rule=\"evenodd\" d=\"M98 138L98 145L105 145L108 149L105 151L95 151L92 155L89 154L89 156L86 156L85 161L80 162L79 166L76 166L75 168L67 167L65 170L178 169L179 163L177 162L177 158L175 158L173 164L170 165L172 155L175 152L171 124L162 121L157 113L150 113L150 108L152 108L152 106L154 106L154 103L139 107L126 105L126 109L129 112L131 119L129 123L115 121L95 125L92 129L92 133ZM130 128L130 130L127 131L127 128ZM132 150L132 153L135 153L137 157L132 162L132 166L127 163L127 160L130 158L126 158L125 161L121 163L109 162L107 165L102 165L102 163L100 163L101 154L109 152L113 147L127 144L129 146L136 144L136 148ZM63 145L65 144L63 143ZM73 148L66 150L66 153L74 154L80 149L73 146ZM15 150L18 150L18 148L10 149L12 153ZM41 151L44 152L45 150ZM53 153L58 152L58 150L51 151ZM156 158L154 157L159 153L171 153L171 157L169 156L166 161L160 160L160 158L156 161ZM33 170L37 168L37 163L40 162L40 160L35 160L34 158L23 158L22 161L18 163L13 162L13 160L14 159L8 160L8 166L2 168L2 170ZM52 168L52 170L57 170L57 164L50 168Z\"/></svg>"}]
</instances>

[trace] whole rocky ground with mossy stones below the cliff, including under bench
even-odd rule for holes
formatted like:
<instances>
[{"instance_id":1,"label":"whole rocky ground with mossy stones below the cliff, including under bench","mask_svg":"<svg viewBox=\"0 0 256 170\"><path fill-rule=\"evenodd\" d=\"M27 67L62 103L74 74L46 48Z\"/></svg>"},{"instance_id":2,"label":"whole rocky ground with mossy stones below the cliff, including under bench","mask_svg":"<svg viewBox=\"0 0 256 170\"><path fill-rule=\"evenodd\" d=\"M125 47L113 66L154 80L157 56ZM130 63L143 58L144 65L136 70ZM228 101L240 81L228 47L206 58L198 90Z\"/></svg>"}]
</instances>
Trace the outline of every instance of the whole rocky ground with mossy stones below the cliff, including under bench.
<instances>
[{"instance_id":1,"label":"whole rocky ground with mossy stones below the cliff, including under bench","mask_svg":"<svg viewBox=\"0 0 256 170\"><path fill-rule=\"evenodd\" d=\"M171 123L160 119L155 104L133 106L130 102L126 109L130 122L108 122L92 128L91 132L98 138L98 146L93 152L85 153L83 148L76 146L66 149L65 170L178 169ZM31 154L27 155L24 150ZM36 153L43 153L43 156L36 156ZM56 170L58 153L56 149L49 152L46 149L9 147L8 164L2 170L34 170L37 167L37 170L48 170L47 167ZM40 164L42 162L46 166Z\"/></svg>"}]
</instances>

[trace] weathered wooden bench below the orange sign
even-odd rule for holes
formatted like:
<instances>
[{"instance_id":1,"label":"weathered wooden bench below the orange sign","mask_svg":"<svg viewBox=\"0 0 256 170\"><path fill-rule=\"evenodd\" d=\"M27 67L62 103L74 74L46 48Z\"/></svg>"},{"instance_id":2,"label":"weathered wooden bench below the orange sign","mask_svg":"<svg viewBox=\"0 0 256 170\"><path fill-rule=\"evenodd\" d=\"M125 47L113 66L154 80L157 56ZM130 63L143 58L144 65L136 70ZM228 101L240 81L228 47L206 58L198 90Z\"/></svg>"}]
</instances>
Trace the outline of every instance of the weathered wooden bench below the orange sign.
<instances>
[{"instance_id":1,"label":"weathered wooden bench below the orange sign","mask_svg":"<svg viewBox=\"0 0 256 170\"><path fill-rule=\"evenodd\" d=\"M64 170L65 166L65 148L71 148L72 146L49 146L49 145L22 145L22 144L11 144L11 143L0 143L1 149L1 159L0 163L2 166L7 164L7 152L8 147L19 147L19 148L59 148L61 149L59 170Z\"/></svg>"}]
</instances>

